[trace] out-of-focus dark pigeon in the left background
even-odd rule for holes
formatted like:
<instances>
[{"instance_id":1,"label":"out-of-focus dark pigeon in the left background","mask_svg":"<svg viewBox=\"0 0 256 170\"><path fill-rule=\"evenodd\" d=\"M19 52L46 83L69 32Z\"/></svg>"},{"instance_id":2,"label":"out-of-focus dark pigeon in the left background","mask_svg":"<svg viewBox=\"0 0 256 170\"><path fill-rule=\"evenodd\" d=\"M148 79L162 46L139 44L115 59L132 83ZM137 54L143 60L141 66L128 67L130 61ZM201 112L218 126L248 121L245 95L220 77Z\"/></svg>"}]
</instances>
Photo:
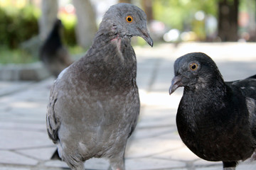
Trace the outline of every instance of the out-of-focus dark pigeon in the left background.
<instances>
[{"instance_id":1,"label":"out-of-focus dark pigeon in the left background","mask_svg":"<svg viewBox=\"0 0 256 170\"><path fill-rule=\"evenodd\" d=\"M63 24L57 19L39 52L40 60L54 77L58 77L63 69L73 63L68 50L63 46L62 30Z\"/></svg>"}]
</instances>

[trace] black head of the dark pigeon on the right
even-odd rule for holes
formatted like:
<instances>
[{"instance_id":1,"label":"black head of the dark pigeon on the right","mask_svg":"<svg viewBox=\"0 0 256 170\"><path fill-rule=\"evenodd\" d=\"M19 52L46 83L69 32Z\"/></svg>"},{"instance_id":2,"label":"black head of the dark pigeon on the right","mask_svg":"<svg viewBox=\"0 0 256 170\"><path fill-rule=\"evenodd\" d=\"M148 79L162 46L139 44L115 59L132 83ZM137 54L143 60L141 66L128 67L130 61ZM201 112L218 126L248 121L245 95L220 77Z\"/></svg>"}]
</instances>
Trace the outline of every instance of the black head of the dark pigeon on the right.
<instances>
[{"instance_id":1,"label":"black head of the dark pigeon on the right","mask_svg":"<svg viewBox=\"0 0 256 170\"><path fill-rule=\"evenodd\" d=\"M174 63L174 79L169 94L178 87L201 90L206 86L223 82L215 62L202 52L192 52L179 57Z\"/></svg>"}]
</instances>

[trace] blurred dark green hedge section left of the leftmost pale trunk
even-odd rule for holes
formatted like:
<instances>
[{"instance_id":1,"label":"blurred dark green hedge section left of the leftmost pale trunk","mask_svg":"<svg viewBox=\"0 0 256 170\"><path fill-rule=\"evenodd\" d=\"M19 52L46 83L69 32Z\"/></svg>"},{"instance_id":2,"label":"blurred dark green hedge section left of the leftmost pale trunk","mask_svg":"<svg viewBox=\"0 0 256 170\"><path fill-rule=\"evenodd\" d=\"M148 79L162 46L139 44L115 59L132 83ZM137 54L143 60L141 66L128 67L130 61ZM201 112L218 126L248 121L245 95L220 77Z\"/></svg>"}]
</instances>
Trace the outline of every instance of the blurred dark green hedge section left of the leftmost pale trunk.
<instances>
[{"instance_id":1,"label":"blurred dark green hedge section left of the leftmost pale trunk","mask_svg":"<svg viewBox=\"0 0 256 170\"><path fill-rule=\"evenodd\" d=\"M33 6L0 8L0 45L16 48L38 34L38 16Z\"/></svg>"}]
</instances>

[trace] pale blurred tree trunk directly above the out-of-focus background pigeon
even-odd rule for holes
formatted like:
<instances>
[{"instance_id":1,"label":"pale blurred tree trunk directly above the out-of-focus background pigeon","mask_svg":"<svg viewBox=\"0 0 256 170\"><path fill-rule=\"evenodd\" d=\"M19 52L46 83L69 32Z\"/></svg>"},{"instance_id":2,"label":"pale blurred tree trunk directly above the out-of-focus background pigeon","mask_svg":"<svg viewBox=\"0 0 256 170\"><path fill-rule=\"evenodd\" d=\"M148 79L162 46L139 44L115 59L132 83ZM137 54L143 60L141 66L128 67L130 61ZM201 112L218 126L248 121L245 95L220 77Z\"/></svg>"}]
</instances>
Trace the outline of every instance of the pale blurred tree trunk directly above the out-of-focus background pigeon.
<instances>
[{"instance_id":1,"label":"pale blurred tree trunk directly above the out-of-focus background pigeon","mask_svg":"<svg viewBox=\"0 0 256 170\"><path fill-rule=\"evenodd\" d=\"M39 35L41 40L45 40L57 18L58 0L41 1L41 10L42 16L39 20Z\"/></svg>"}]
</instances>

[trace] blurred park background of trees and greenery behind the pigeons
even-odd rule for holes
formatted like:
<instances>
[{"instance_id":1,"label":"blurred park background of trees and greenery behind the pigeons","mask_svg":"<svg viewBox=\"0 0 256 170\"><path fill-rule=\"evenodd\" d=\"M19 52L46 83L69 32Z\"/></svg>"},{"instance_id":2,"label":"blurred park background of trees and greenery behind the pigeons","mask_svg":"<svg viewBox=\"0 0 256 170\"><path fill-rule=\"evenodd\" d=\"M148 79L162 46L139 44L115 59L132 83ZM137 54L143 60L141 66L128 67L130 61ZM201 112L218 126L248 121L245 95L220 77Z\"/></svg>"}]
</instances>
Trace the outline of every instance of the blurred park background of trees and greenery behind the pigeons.
<instances>
[{"instance_id":1,"label":"blurred park background of trees and greenery behind the pigeons","mask_svg":"<svg viewBox=\"0 0 256 170\"><path fill-rule=\"evenodd\" d=\"M55 18L63 23L62 40L70 54L85 52L102 15L118 2L146 12L154 45L256 41L254 0L0 0L0 63L37 62ZM133 38L133 43L145 42Z\"/></svg>"}]
</instances>

